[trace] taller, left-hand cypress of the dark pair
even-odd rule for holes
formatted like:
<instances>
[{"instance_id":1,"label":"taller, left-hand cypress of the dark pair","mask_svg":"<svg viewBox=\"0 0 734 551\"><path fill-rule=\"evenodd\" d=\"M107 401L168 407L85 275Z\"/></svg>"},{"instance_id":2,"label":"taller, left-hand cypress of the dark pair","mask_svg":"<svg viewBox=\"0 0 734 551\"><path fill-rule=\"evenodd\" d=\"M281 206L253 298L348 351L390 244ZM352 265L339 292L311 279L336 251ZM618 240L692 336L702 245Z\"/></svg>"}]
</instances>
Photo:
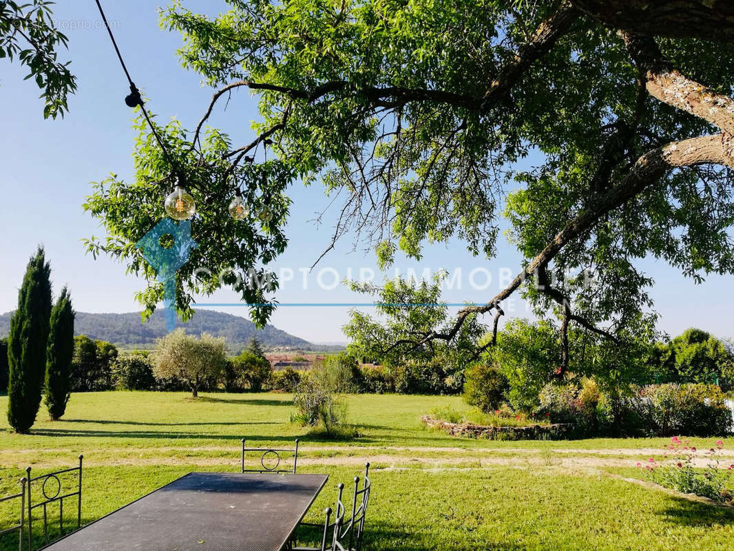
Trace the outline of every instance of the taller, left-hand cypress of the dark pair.
<instances>
[{"instance_id":1,"label":"taller, left-hand cypress of the dark pair","mask_svg":"<svg viewBox=\"0 0 734 551\"><path fill-rule=\"evenodd\" d=\"M29 431L41 405L51 318L50 276L46 253L39 247L26 267L18 309L10 317L7 420L18 433Z\"/></svg>"}]
</instances>

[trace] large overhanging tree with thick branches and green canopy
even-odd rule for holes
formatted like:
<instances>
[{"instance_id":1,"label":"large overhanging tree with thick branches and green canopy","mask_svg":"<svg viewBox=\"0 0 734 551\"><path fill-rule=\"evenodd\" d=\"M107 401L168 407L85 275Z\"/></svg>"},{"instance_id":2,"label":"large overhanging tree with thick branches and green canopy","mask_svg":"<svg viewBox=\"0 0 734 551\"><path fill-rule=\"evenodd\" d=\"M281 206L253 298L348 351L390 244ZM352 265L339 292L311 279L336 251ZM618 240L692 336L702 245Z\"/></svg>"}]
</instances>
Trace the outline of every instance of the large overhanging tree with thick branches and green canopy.
<instances>
[{"instance_id":1,"label":"large overhanging tree with thick branches and green canopy","mask_svg":"<svg viewBox=\"0 0 734 551\"><path fill-rule=\"evenodd\" d=\"M139 298L149 310L162 288L132 243L163 215L177 171L201 206L192 262L214 274L235 267L225 283L250 303L275 289L247 290L245 273L286 246L287 187L299 180L342 201L334 240L354 232L383 263L396 248L419 258L426 243L450 238L492 258L509 225L526 258L517 277L410 347L454 339L470 316L501 314L519 291L558 317L565 367L570 326L619 345L653 325L637 259L664 259L697 280L733 271L730 2L228 4L216 18L179 2L162 12L183 35L183 67L217 91L190 132L161 128L173 160L141 126L135 181L98 184L87 203L109 232L90 251L147 275ZM236 109L238 90L258 94L261 112L245 145L206 126L225 101ZM530 151L543 162L518 170ZM231 220L233 183L252 212L266 206L272 217ZM178 308L219 284L184 268Z\"/></svg>"}]
</instances>

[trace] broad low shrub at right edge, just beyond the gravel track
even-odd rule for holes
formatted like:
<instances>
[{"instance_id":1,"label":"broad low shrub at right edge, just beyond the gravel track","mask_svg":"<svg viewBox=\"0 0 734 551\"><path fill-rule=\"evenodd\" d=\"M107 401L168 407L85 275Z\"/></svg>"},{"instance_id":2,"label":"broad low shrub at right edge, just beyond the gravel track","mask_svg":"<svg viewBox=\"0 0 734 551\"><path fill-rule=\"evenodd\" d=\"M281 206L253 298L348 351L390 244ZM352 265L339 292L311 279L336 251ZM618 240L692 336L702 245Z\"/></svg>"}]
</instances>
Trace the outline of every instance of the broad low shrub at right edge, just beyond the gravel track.
<instances>
[{"instance_id":1,"label":"broad low shrub at right edge, just beyond the gravel track","mask_svg":"<svg viewBox=\"0 0 734 551\"><path fill-rule=\"evenodd\" d=\"M732 422L724 394L714 385L644 386L634 406L651 435L722 436Z\"/></svg>"}]
</instances>

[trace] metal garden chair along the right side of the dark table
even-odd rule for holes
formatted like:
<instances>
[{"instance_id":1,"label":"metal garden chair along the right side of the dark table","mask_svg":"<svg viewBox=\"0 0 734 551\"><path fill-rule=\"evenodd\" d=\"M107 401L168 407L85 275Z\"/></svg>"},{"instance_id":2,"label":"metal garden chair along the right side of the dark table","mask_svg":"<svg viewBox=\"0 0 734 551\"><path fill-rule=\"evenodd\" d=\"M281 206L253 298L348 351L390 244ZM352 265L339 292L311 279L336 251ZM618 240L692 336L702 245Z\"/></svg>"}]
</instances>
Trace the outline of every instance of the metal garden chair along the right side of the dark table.
<instances>
[{"instance_id":1,"label":"metal garden chair along the right side of the dark table","mask_svg":"<svg viewBox=\"0 0 734 551\"><path fill-rule=\"evenodd\" d=\"M365 464L365 478L362 489L360 489L360 478L355 476L355 491L352 497L352 515L351 519L344 521L345 508L341 500L344 491L344 484L339 484L338 495L336 498L336 506L327 507L324 510L326 520L323 525L302 522L299 526L310 526L321 528L321 547L291 547L292 551L360 551L362 549L362 541L365 527L365 519L367 515L367 505L369 503L369 494L371 489L371 481L369 479L369 464ZM331 514L334 513L334 520L330 522Z\"/></svg>"}]
</instances>

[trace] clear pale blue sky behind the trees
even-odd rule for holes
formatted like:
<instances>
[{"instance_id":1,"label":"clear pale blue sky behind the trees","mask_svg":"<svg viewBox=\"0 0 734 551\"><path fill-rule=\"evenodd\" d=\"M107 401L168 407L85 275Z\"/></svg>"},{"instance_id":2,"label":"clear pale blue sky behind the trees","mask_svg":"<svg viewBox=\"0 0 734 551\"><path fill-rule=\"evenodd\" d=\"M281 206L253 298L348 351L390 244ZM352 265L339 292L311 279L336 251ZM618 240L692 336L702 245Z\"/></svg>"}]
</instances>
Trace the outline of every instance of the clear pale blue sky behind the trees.
<instances>
[{"instance_id":1,"label":"clear pale blue sky behind the trees","mask_svg":"<svg viewBox=\"0 0 734 551\"><path fill-rule=\"evenodd\" d=\"M220 9L218 1L185 1L200 12ZM107 0L106 14L115 27L115 36L126 58L134 81L148 97L148 108L161 120L175 117L189 128L195 126L211 97L211 90L200 86L194 73L178 65L175 50L179 35L159 29L156 7L160 1ZM132 173L131 151L134 133L133 113L123 103L128 85L117 62L109 37L100 24L93 0L64 0L55 7L55 18L70 38L68 52L79 91L70 98L70 112L63 120L43 120L43 104L32 80L23 81L26 72L19 65L1 60L0 67L0 312L15 308L17 289L30 254L38 243L46 247L54 270L57 289L68 284L79 311L123 312L139 309L133 298L142 282L126 275L125 267L102 257L96 261L84 253L81 239L103 230L85 214L81 204L91 190L90 182L115 172L123 178ZM257 118L255 98L241 91L233 95L229 108L217 109L210 122L229 132L235 142L252 137L250 120ZM532 159L529 159L531 162ZM288 223L290 245L273 269L294 270L294 281L284 282L277 294L281 303L355 303L366 298L354 295L343 286L319 289L318 278L330 287L335 273L342 278L348 270L356 277L361 268L376 273L374 255L363 247L352 251L352 241L344 240L331 251L308 285L302 285L301 267L309 267L328 245L333 216L327 215L318 228L313 219L329 201L319 187L296 186L291 190L294 204ZM335 212L334 212L335 214ZM499 289L502 269L514 273L520 256L506 243L496 259L476 259L460 242L426 248L421 262L398 256L401 270L438 270L458 268L462 289L444 293L450 302L484 301ZM712 276L702 285L683 278L677 270L653 259L643 262L655 279L653 298L661 314L659 327L678 334L697 326L719 336L734 336L730 312L734 307L731 276ZM486 289L469 289L469 274L475 281L492 281ZM390 270L389 275L393 275ZM233 292L222 290L200 302L236 303ZM217 308L247 317L241 307ZM515 301L514 315L527 315L526 307ZM341 333L348 317L348 306L283 306L272 323L291 334L314 342L344 341ZM487 320L488 321L488 320Z\"/></svg>"}]
</instances>

